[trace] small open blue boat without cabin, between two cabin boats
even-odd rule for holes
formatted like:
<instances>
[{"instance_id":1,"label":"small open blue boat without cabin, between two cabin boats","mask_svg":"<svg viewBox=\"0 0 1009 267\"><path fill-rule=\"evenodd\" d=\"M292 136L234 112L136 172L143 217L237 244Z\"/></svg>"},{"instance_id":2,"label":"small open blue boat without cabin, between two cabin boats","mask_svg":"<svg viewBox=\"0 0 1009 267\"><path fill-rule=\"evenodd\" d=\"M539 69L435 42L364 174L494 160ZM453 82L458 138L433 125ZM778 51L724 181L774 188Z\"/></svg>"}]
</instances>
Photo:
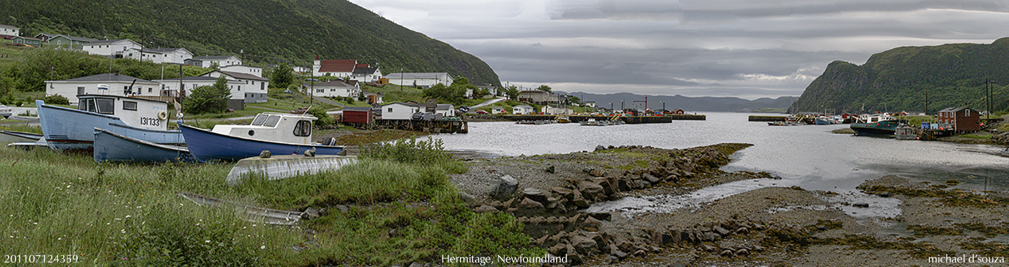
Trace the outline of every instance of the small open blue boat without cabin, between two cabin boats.
<instances>
[{"instance_id":1,"label":"small open blue boat without cabin, between two cabin boats","mask_svg":"<svg viewBox=\"0 0 1009 267\"><path fill-rule=\"evenodd\" d=\"M95 128L97 163L102 162L196 162L187 148L154 144L118 135L107 129Z\"/></svg>"}]
</instances>

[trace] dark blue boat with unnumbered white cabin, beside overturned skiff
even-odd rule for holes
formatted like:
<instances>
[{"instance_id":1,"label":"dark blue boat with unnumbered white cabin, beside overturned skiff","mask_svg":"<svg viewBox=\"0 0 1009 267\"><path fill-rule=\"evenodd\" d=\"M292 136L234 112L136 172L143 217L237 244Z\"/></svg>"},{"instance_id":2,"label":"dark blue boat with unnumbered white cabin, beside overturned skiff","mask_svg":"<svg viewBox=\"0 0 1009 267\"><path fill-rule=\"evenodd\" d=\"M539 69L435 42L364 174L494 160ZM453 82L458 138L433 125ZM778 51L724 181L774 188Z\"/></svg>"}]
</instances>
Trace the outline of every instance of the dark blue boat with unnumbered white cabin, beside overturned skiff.
<instances>
[{"instance_id":1,"label":"dark blue boat with unnumbered white cabin, beside overturned skiff","mask_svg":"<svg viewBox=\"0 0 1009 267\"><path fill-rule=\"evenodd\" d=\"M312 121L306 114L263 112L247 125L214 125L202 129L179 123L190 153L200 162L237 161L258 156L262 151L272 155L304 154L315 150L316 155L338 155L342 146L312 142Z\"/></svg>"}]
</instances>

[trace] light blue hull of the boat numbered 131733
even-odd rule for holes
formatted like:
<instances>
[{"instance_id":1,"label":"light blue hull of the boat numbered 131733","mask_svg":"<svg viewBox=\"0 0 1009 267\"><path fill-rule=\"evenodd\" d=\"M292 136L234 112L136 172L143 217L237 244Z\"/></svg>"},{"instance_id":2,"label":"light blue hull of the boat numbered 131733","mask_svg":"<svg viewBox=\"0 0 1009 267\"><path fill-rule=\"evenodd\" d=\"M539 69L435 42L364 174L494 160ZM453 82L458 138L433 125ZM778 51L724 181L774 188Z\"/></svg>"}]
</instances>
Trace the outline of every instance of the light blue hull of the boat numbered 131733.
<instances>
[{"instance_id":1,"label":"light blue hull of the boat numbered 131733","mask_svg":"<svg viewBox=\"0 0 1009 267\"><path fill-rule=\"evenodd\" d=\"M45 105L38 106L38 121L49 148L58 152L94 150L94 128L106 128L120 135L156 144L183 144L180 130L157 130L128 126L119 117Z\"/></svg>"}]
</instances>

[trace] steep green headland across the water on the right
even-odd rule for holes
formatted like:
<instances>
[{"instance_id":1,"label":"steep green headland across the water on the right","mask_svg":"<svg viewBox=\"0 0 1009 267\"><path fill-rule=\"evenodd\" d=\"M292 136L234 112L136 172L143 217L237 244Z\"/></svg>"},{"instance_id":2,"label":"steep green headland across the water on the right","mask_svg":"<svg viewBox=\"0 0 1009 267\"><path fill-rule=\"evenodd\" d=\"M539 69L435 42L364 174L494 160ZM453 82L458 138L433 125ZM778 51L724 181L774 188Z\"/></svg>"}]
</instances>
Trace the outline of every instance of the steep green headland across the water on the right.
<instances>
[{"instance_id":1,"label":"steep green headland across the water on the right","mask_svg":"<svg viewBox=\"0 0 1009 267\"><path fill-rule=\"evenodd\" d=\"M925 111L951 106L1009 108L1009 37L992 43L903 47L875 54L865 65L835 61L806 87L789 112Z\"/></svg>"}]
</instances>

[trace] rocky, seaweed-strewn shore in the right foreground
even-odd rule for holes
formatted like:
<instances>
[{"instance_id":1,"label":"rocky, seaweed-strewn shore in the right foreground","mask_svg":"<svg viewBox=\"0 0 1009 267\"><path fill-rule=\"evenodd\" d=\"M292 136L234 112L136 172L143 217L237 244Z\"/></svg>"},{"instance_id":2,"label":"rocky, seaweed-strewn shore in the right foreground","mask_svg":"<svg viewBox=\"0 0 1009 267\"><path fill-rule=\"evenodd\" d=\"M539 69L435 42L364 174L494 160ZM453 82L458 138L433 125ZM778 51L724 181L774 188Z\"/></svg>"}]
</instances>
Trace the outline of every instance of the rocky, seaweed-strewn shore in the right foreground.
<instances>
[{"instance_id":1,"label":"rocky, seaweed-strewn shore in the right foreground","mask_svg":"<svg viewBox=\"0 0 1009 267\"><path fill-rule=\"evenodd\" d=\"M592 266L927 265L927 257L1006 257L1006 204L996 192L903 177L867 181L873 197L898 199L900 214L853 216L873 202L833 192L768 187L668 212L585 212L626 196L683 195L767 173L723 172L747 144L684 150L602 147L593 152L480 159L450 179L474 211L504 211L525 224L532 244ZM961 199L961 200L956 200ZM849 212L846 212L848 210ZM864 212L865 213L865 212ZM896 232L896 233L895 233ZM1001 235L1001 236L1000 236Z\"/></svg>"}]
</instances>

